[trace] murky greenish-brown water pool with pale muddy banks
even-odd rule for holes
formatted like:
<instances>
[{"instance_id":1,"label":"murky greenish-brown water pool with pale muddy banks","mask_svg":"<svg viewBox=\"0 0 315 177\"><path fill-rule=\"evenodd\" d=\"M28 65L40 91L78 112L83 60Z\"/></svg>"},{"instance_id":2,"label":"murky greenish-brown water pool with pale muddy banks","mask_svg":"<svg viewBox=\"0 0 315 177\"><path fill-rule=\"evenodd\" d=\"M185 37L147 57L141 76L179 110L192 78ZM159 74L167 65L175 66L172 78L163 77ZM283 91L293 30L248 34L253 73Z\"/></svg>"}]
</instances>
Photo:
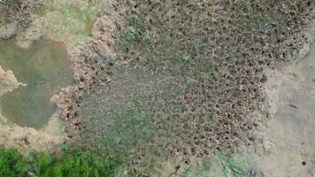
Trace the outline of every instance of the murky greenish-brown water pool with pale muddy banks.
<instances>
[{"instance_id":1,"label":"murky greenish-brown water pool with pale muddy banks","mask_svg":"<svg viewBox=\"0 0 315 177\"><path fill-rule=\"evenodd\" d=\"M27 84L0 98L4 117L22 127L46 124L57 108L50 98L73 84L66 51L56 42L42 39L27 50L12 40L0 42L0 65Z\"/></svg>"}]
</instances>

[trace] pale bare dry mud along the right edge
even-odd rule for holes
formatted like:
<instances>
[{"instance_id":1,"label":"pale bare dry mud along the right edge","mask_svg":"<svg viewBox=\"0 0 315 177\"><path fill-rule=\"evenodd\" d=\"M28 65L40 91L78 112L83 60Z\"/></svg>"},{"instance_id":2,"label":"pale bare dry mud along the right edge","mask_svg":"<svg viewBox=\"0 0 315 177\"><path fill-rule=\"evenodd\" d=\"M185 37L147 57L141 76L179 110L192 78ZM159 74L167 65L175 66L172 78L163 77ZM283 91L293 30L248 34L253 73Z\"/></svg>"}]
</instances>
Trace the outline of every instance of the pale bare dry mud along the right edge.
<instances>
[{"instance_id":1,"label":"pale bare dry mud along the right edge","mask_svg":"<svg viewBox=\"0 0 315 177\"><path fill-rule=\"evenodd\" d=\"M314 28L297 58L266 72L270 119L258 127L263 150L253 156L265 176L315 176Z\"/></svg>"}]
</instances>

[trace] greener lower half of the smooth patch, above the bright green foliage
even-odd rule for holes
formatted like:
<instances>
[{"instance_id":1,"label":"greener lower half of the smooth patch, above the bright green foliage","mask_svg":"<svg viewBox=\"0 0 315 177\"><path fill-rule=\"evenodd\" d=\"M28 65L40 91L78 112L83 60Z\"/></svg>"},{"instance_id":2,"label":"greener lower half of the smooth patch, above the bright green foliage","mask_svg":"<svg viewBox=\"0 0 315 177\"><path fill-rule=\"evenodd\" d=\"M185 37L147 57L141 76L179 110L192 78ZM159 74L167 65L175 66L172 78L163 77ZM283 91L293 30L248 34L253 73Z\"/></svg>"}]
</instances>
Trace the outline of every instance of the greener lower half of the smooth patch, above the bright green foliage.
<instances>
[{"instance_id":1,"label":"greener lower half of the smooth patch, above the bright green foliage","mask_svg":"<svg viewBox=\"0 0 315 177\"><path fill-rule=\"evenodd\" d=\"M150 142L154 127L150 127L148 122L152 115L146 108L139 109L134 104L126 101L113 105L108 111L91 108L85 112L88 130L93 132L91 137L96 141L95 147L129 154L137 153L135 147L144 148L145 143Z\"/></svg>"}]
</instances>

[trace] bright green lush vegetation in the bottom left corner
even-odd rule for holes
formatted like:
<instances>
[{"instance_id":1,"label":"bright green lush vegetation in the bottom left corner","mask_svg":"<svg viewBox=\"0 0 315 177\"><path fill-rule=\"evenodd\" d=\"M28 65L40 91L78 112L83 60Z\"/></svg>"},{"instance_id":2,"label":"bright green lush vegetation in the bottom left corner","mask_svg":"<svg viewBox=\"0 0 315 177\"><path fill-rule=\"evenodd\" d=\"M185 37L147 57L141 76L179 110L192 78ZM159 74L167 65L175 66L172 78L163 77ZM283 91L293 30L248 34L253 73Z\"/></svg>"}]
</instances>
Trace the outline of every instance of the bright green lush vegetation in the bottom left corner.
<instances>
[{"instance_id":1,"label":"bright green lush vegetation in the bottom left corner","mask_svg":"<svg viewBox=\"0 0 315 177\"><path fill-rule=\"evenodd\" d=\"M25 158L17 150L0 149L1 177L114 177L121 170L119 158L104 158L90 151L67 152L62 158L30 153Z\"/></svg>"}]
</instances>

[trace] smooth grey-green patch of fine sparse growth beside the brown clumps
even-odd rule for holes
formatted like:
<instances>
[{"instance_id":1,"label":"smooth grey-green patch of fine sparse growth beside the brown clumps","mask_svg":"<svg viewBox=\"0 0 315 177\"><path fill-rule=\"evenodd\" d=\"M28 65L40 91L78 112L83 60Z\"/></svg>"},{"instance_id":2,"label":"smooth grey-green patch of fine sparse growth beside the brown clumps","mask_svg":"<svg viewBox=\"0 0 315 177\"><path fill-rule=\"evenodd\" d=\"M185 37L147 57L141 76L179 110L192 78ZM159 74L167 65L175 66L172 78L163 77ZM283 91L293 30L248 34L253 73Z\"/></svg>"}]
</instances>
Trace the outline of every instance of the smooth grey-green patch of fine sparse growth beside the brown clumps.
<instances>
[{"instance_id":1,"label":"smooth grey-green patch of fine sparse growth beside the brown clumps","mask_svg":"<svg viewBox=\"0 0 315 177\"><path fill-rule=\"evenodd\" d=\"M132 158L140 150L149 150L156 136L157 127L152 123L155 103L150 102L150 93L156 92L157 83L142 70L116 68L116 72L119 74L108 86L84 98L81 115L88 138L82 137L82 142Z\"/></svg>"}]
</instances>

